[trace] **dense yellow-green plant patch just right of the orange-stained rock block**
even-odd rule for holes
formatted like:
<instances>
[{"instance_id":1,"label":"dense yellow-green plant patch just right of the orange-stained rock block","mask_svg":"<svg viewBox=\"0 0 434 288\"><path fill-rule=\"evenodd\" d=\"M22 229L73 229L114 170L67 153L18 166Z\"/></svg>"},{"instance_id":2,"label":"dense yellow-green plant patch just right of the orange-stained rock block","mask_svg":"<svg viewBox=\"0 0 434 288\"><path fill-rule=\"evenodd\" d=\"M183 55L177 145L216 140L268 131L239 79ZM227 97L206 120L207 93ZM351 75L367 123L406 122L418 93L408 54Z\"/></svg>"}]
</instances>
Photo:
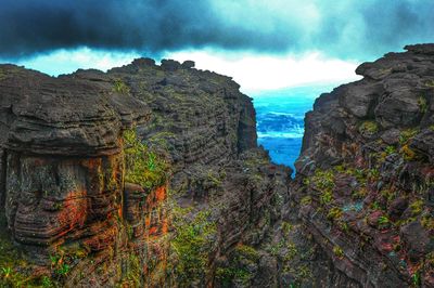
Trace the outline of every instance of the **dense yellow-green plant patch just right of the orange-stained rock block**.
<instances>
[{"instance_id":1,"label":"dense yellow-green plant patch just right of the orange-stained rock block","mask_svg":"<svg viewBox=\"0 0 434 288\"><path fill-rule=\"evenodd\" d=\"M125 181L143 187L166 182L168 163L140 142L135 130L124 132Z\"/></svg>"}]
</instances>

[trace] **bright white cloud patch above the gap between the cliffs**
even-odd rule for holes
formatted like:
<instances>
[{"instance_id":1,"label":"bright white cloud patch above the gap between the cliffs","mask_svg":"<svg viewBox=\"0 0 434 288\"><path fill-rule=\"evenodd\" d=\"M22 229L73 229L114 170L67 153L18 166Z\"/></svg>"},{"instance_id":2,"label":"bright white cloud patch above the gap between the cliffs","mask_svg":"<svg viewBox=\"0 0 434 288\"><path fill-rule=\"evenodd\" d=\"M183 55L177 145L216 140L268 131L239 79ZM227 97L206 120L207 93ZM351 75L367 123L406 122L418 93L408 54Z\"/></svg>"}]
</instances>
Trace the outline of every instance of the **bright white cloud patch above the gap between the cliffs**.
<instances>
[{"instance_id":1,"label":"bright white cloud patch above the gap between the cliffs","mask_svg":"<svg viewBox=\"0 0 434 288\"><path fill-rule=\"evenodd\" d=\"M326 58L319 52L278 56L203 50L176 52L166 56L180 62L192 60L196 68L231 76L246 93L360 79L355 74L358 63Z\"/></svg>"}]
</instances>

